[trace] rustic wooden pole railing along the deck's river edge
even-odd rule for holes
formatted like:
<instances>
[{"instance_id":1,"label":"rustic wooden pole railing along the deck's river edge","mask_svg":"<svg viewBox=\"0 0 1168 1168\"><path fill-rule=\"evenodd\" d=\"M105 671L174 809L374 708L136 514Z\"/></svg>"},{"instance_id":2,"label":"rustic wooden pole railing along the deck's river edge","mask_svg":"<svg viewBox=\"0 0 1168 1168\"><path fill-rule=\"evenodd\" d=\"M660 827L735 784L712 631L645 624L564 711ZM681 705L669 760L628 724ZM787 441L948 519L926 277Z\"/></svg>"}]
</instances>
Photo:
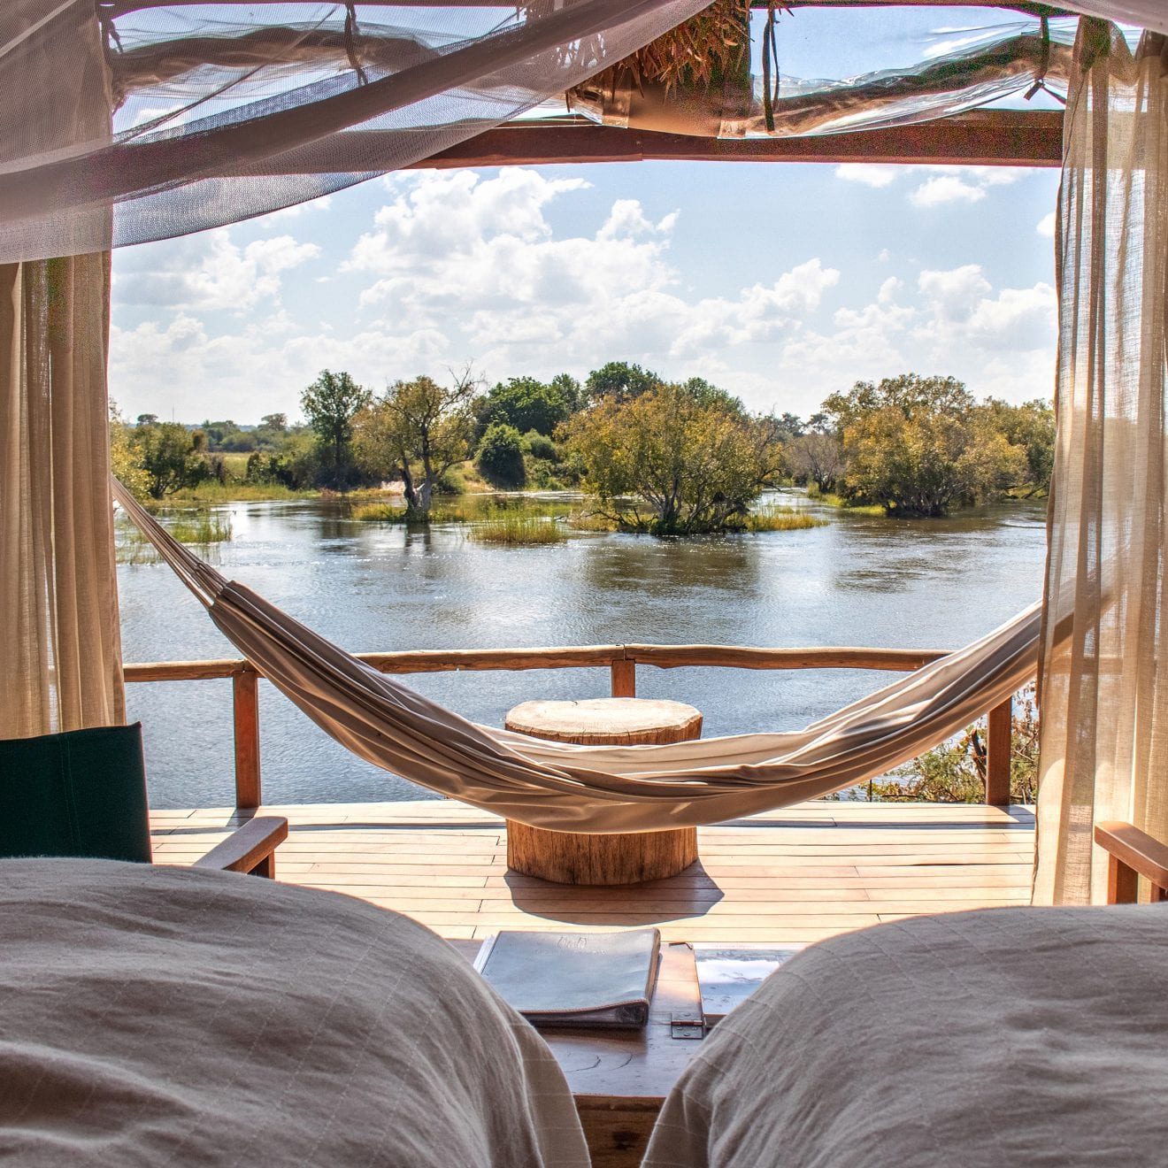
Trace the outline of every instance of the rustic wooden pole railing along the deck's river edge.
<instances>
[{"instance_id":1,"label":"rustic wooden pole railing along the deck's river edge","mask_svg":"<svg viewBox=\"0 0 1168 1168\"><path fill-rule=\"evenodd\" d=\"M586 645L531 649L416 649L409 653L357 653L382 673L452 673L487 669L605 668L613 697L637 696L637 666L680 669L708 666L730 669L890 669L906 673L944 656L944 649L811 648L770 649L736 645ZM124 667L127 682L208 681L230 677L234 687L235 801L258 807L259 677L243 659L155 661ZM989 711L986 744L986 802L1010 801L1010 698Z\"/></svg>"}]
</instances>

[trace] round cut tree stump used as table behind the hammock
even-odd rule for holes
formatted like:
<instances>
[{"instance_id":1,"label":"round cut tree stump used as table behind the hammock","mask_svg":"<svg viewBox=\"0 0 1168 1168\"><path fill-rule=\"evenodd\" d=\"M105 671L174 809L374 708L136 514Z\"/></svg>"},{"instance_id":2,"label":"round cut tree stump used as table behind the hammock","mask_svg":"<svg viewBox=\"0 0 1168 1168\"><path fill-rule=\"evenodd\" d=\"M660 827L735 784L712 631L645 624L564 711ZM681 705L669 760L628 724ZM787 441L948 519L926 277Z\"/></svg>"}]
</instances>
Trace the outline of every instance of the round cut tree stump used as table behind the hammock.
<instances>
[{"instance_id":1,"label":"round cut tree stump used as table behind the hammock","mask_svg":"<svg viewBox=\"0 0 1168 1168\"><path fill-rule=\"evenodd\" d=\"M503 725L551 742L633 746L700 738L702 715L682 702L597 697L523 702ZM507 820L507 867L559 884L639 884L676 876L696 858L696 827L588 835Z\"/></svg>"}]
</instances>

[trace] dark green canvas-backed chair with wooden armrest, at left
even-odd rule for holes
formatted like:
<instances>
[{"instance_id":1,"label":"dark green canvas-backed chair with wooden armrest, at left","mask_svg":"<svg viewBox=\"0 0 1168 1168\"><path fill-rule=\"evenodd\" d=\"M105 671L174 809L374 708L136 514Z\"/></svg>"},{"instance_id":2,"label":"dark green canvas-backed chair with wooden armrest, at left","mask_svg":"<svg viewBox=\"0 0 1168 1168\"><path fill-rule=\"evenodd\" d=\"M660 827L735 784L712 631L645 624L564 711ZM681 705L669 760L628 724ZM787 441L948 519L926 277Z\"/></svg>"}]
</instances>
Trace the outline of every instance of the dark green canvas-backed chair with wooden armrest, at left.
<instances>
[{"instance_id":1,"label":"dark green canvas-backed chair with wooden armrest, at left","mask_svg":"<svg viewBox=\"0 0 1168 1168\"><path fill-rule=\"evenodd\" d=\"M274 875L287 820L258 816L195 867ZM141 723L0 742L0 856L151 862Z\"/></svg>"}]
</instances>

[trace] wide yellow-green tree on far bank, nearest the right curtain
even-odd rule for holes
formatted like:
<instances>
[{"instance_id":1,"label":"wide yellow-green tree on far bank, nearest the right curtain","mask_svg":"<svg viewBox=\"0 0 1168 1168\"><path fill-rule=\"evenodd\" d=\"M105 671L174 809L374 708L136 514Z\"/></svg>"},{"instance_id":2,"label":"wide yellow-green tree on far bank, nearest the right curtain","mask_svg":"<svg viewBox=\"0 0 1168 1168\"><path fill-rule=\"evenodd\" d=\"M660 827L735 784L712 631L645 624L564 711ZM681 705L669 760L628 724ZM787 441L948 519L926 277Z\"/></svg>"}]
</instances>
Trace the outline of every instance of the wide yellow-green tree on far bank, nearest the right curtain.
<instances>
[{"instance_id":1,"label":"wide yellow-green tree on far bank, nearest the right curtain","mask_svg":"<svg viewBox=\"0 0 1168 1168\"><path fill-rule=\"evenodd\" d=\"M945 515L980 503L1024 475L1026 456L954 377L902 374L880 384L856 382L823 409L843 444L839 489L853 502L889 514Z\"/></svg>"}]
</instances>

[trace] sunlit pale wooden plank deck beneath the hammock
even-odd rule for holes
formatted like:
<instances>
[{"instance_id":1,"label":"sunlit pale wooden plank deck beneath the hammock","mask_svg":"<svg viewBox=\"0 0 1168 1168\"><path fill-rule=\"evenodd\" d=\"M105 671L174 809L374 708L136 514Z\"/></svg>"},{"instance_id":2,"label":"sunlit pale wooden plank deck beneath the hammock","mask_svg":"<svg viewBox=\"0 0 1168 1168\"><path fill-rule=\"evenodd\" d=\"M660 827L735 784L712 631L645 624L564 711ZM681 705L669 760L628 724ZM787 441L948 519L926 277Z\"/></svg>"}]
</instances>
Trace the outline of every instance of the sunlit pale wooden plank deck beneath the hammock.
<instances>
[{"instance_id":1,"label":"sunlit pale wooden plank deck beneath the hammock","mask_svg":"<svg viewBox=\"0 0 1168 1168\"><path fill-rule=\"evenodd\" d=\"M290 835L277 876L420 920L443 937L654 924L666 940L815 941L881 920L1030 898L1028 807L812 801L703 827L700 863L627 888L508 875L503 821L449 800L265 806ZM189 863L235 808L151 815L158 863Z\"/></svg>"}]
</instances>

